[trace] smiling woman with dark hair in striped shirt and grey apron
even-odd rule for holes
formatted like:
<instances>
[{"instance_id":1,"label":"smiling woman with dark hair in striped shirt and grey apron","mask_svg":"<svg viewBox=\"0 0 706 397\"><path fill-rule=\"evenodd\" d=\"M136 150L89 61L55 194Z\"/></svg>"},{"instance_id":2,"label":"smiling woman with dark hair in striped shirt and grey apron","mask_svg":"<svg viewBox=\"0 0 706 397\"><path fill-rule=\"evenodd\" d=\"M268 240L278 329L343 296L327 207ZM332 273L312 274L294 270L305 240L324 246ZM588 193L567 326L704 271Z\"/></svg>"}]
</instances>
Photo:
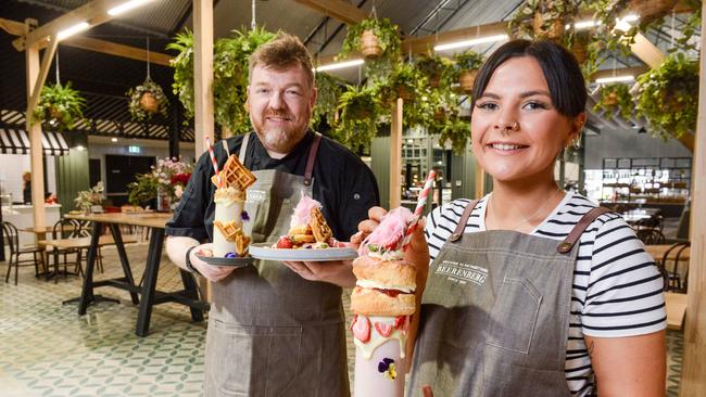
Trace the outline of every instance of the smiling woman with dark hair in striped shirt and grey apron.
<instances>
[{"instance_id":1,"label":"smiling woman with dark hair in striped shirt and grey apron","mask_svg":"<svg viewBox=\"0 0 706 397\"><path fill-rule=\"evenodd\" d=\"M418 236L406 253L428 273L408 395L427 384L437 396L664 395L653 259L618 215L554 179L587 119L575 57L510 41L480 69L472 98L472 151L493 192L433 210L428 251ZM382 214L371 209L355 238Z\"/></svg>"}]
</instances>

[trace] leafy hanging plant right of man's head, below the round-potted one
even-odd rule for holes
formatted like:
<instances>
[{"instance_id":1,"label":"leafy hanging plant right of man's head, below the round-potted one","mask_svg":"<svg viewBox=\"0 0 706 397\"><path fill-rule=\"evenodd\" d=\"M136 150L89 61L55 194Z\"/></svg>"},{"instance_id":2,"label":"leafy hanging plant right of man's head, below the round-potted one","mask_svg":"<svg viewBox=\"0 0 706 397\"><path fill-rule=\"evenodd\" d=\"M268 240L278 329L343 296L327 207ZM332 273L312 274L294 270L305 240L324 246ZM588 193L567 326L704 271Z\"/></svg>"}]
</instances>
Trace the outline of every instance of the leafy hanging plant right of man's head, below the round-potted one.
<instances>
[{"instance_id":1,"label":"leafy hanging plant right of man's head, below the round-potted one","mask_svg":"<svg viewBox=\"0 0 706 397\"><path fill-rule=\"evenodd\" d=\"M377 135L377 120L381 113L376 90L348 86L339 98L337 110L340 117L331 130L333 138L354 151L368 146Z\"/></svg>"}]
</instances>

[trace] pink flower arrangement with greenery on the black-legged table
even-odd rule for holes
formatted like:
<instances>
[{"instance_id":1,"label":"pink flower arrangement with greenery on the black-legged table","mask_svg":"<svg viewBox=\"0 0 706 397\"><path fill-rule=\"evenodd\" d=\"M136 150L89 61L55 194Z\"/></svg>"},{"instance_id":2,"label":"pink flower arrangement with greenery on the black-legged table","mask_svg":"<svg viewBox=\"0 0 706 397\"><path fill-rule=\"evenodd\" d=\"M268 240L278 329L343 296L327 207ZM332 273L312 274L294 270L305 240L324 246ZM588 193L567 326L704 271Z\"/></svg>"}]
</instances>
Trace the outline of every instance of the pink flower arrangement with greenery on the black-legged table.
<instances>
[{"instance_id":1,"label":"pink flower arrangement with greenery on the black-legged table","mask_svg":"<svg viewBox=\"0 0 706 397\"><path fill-rule=\"evenodd\" d=\"M151 172L138 174L137 181L127 185L130 192L128 202L133 205L144 205L162 194L168 198L167 208L157 209L169 209L169 206L181 198L192 171L191 164L179 162L176 157L160 158L156 165L152 166Z\"/></svg>"}]
</instances>

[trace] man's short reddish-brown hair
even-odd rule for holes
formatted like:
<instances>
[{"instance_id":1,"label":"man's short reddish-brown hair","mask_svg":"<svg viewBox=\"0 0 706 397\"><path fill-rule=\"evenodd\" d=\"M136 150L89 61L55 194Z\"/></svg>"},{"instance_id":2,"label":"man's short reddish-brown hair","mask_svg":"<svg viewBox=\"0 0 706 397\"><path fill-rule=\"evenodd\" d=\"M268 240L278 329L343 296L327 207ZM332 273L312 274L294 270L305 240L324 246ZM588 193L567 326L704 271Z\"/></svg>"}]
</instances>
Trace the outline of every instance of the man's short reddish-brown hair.
<instances>
[{"instance_id":1,"label":"man's short reddish-brown hair","mask_svg":"<svg viewBox=\"0 0 706 397\"><path fill-rule=\"evenodd\" d=\"M285 71L292 66L301 66L304 73L306 73L310 87L314 87L312 55L297 36L280 31L273 40L260 46L250 55L249 73L255 66L275 71ZM252 77L252 74L248 76L248 81L250 81L250 77Z\"/></svg>"}]
</instances>

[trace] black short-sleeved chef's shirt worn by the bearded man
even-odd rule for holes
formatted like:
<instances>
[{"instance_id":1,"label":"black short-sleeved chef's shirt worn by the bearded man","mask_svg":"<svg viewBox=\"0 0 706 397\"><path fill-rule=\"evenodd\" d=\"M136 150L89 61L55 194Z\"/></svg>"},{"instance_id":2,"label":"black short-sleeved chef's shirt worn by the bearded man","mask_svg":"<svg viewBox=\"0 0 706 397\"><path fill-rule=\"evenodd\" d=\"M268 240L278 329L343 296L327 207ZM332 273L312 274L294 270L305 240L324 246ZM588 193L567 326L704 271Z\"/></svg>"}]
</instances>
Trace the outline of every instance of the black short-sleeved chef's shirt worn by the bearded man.
<instances>
[{"instance_id":1,"label":"black short-sleeved chef's shirt worn by the bearded man","mask_svg":"<svg viewBox=\"0 0 706 397\"><path fill-rule=\"evenodd\" d=\"M242 136L226 140L230 154L240 153ZM314 140L314 132L307 131L294 150L282 158L272 158L256 133L250 135L245 164L250 170L278 169L288 174L303 176L306 169L308 149ZM222 142L213 145L223 169L227 154ZM213 194L215 185L211 183L214 175L209 153L199 158L191 179L184 191L179 205L174 212L174 218L166 223L167 235L184 235L201 242L213 241L213 218L215 204ZM349 241L357 231L360 221L367 219L368 209L379 205L377 181L368 168L351 151L326 137L316 154L313 170L314 200L324 205L323 213L328 221L333 236L340 241ZM280 216L291 216L281 214Z\"/></svg>"}]
</instances>

